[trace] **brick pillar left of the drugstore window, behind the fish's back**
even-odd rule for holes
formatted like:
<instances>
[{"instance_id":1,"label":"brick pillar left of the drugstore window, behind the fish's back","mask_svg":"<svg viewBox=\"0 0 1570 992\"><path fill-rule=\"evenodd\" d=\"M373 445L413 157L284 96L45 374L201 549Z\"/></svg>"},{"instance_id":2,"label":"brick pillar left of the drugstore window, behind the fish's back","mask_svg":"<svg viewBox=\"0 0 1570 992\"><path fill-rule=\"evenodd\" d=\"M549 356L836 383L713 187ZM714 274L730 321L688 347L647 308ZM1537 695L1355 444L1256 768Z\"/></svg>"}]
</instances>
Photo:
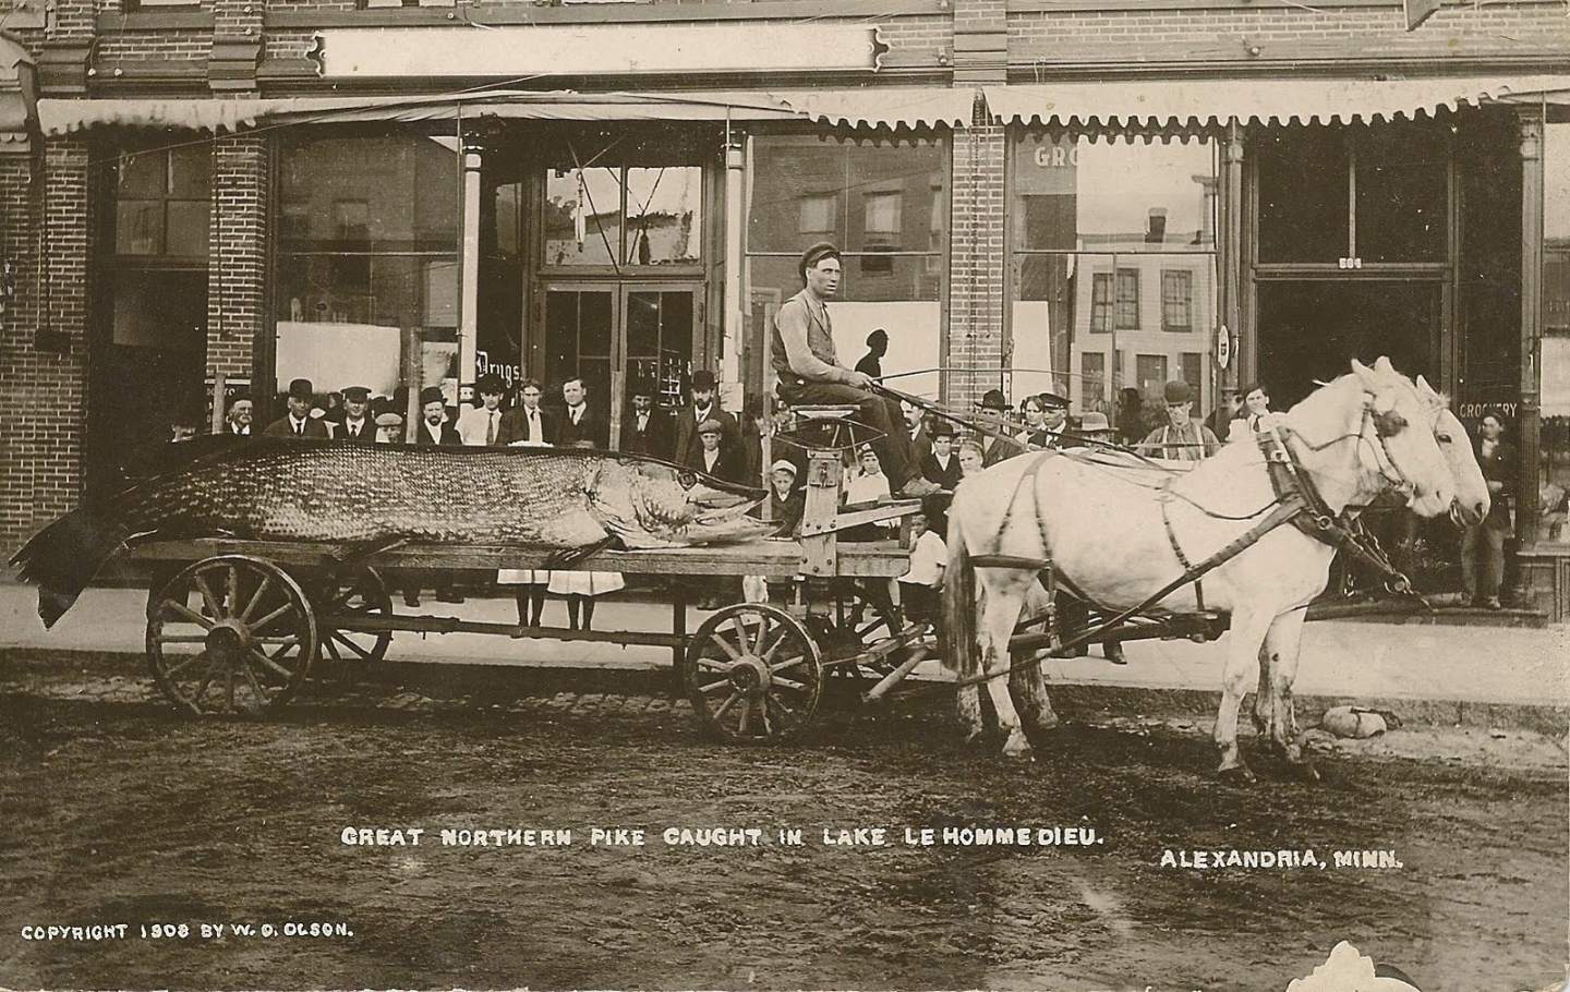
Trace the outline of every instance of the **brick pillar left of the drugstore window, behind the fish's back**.
<instances>
[{"instance_id":1,"label":"brick pillar left of the drugstore window, behind the fish's back","mask_svg":"<svg viewBox=\"0 0 1570 992\"><path fill-rule=\"evenodd\" d=\"M256 341L267 330L267 190L272 146L264 135L214 141L207 264L207 377L251 378ZM257 388L261 386L261 389ZM253 383L257 411L265 385Z\"/></svg>"}]
</instances>

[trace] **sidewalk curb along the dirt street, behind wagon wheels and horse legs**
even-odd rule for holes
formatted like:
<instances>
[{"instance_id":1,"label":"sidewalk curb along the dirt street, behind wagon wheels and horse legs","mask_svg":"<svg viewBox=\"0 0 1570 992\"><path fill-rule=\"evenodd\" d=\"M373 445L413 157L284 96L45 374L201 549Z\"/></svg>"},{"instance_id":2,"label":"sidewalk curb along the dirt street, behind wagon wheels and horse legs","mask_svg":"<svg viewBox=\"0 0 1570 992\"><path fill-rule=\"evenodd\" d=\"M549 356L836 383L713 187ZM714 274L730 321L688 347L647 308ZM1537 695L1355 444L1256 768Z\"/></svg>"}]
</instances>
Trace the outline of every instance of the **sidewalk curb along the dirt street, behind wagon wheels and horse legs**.
<instances>
[{"instance_id":1,"label":"sidewalk curb along the dirt street, behind wagon wheels and horse legs","mask_svg":"<svg viewBox=\"0 0 1570 992\"><path fill-rule=\"evenodd\" d=\"M14 656L25 653L28 661L16 670L28 673L60 673L71 670L83 673L113 673L141 678L146 672L140 653L129 651L74 651L25 648L0 648L0 675L14 664ZM579 664L548 666L493 666L468 662L419 662L388 661L378 670L367 673L367 683L429 689L440 695L554 695L615 694L669 697L677 692L669 666L661 667L606 667ZM922 681L925 686L939 683ZM309 691L309 689L308 689ZM1068 717L1182 717L1199 725L1215 719L1217 692L1209 689L1174 689L1141 686L1108 686L1088 683L1053 681L1047 686L1052 705ZM944 705L939 700L926 705ZM911 705L893 695L893 706ZM1367 709L1393 713L1402 725L1479 730L1524 730L1550 738L1570 735L1570 706L1529 703L1487 703L1470 700L1356 697L1356 695L1298 695L1297 713L1302 727L1314 727L1320 716L1333 706L1355 705ZM1245 700L1239 711L1239 728L1250 730L1251 705Z\"/></svg>"}]
</instances>

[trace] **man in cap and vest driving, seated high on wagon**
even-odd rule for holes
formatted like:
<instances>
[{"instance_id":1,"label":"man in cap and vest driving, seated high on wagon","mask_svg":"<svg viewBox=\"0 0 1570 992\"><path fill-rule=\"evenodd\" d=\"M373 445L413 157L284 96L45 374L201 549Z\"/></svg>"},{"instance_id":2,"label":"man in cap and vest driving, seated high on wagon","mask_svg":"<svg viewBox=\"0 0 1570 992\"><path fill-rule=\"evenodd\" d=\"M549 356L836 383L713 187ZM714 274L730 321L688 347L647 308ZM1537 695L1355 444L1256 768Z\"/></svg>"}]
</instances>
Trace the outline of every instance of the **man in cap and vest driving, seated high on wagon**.
<instances>
[{"instance_id":1,"label":"man in cap and vest driving, seated high on wagon","mask_svg":"<svg viewBox=\"0 0 1570 992\"><path fill-rule=\"evenodd\" d=\"M774 317L772 358L780 397L791 405L856 405L857 419L881 436L873 441L895 496L926 496L937 483L920 476L900 402L873 392L871 377L840 364L827 301L840 290L840 250L827 242L801 256L802 290Z\"/></svg>"}]
</instances>

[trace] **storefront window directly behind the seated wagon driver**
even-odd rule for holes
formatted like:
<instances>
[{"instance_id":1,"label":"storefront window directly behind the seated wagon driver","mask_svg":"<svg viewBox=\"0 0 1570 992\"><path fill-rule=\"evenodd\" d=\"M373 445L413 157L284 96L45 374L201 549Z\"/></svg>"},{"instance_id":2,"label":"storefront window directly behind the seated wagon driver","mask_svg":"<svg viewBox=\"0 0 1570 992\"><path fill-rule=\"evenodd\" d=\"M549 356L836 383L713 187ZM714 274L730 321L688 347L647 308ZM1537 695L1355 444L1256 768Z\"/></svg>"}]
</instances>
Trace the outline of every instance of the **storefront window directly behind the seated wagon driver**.
<instances>
[{"instance_id":1,"label":"storefront window directly behind the seated wagon driver","mask_svg":"<svg viewBox=\"0 0 1570 992\"><path fill-rule=\"evenodd\" d=\"M845 279L829 306L840 364L854 366L868 352L867 337L882 328L890 347L881 367L890 385L937 396L947 160L947 146L931 138L752 140L749 383L772 381L760 342L779 305L802 287L796 270L802 250L832 242L845 253Z\"/></svg>"}]
</instances>

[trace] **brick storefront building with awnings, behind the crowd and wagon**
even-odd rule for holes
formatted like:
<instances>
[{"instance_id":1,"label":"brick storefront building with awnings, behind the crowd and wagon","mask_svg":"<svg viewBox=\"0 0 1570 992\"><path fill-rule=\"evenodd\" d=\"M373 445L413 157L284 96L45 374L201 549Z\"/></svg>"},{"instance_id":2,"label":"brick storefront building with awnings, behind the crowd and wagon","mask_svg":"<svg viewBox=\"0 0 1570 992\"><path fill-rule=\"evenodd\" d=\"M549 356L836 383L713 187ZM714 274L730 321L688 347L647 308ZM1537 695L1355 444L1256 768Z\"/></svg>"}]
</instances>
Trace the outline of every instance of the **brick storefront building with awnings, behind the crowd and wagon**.
<instances>
[{"instance_id":1,"label":"brick storefront building with awnings, behind the crowd and wagon","mask_svg":"<svg viewBox=\"0 0 1570 992\"><path fill-rule=\"evenodd\" d=\"M6 551L218 380L259 421L295 375L736 405L834 240L846 363L887 328L950 402L1286 407L1388 353L1498 405L1521 574L1570 595L1562 3L0 5Z\"/></svg>"}]
</instances>

